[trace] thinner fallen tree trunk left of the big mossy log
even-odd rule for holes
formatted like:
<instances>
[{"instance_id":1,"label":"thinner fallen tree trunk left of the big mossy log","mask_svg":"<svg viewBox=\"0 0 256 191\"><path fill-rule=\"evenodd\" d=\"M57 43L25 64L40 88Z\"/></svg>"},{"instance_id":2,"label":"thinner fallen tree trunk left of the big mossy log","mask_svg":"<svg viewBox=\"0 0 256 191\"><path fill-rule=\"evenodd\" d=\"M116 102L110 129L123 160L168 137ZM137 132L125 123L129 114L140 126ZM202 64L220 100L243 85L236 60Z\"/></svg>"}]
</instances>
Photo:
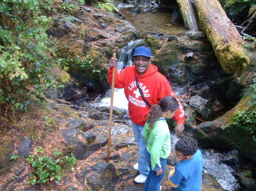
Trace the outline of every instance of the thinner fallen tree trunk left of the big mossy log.
<instances>
[{"instance_id":1,"label":"thinner fallen tree trunk left of the big mossy log","mask_svg":"<svg viewBox=\"0 0 256 191\"><path fill-rule=\"evenodd\" d=\"M190 29L191 31L199 31L196 21L196 15L190 0L177 0L177 3L179 4L185 27Z\"/></svg>"}]
</instances>

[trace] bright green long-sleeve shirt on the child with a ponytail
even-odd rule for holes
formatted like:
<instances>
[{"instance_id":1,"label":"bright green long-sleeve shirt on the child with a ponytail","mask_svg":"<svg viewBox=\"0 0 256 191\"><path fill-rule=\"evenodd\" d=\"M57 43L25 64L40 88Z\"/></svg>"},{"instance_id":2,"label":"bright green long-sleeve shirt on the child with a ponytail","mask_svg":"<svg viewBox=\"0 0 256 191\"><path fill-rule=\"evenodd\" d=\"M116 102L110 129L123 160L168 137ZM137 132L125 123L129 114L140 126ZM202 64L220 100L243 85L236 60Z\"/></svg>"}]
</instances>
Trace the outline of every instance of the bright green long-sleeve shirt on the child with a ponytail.
<instances>
[{"instance_id":1,"label":"bright green long-sleeve shirt on the child with a ponytail","mask_svg":"<svg viewBox=\"0 0 256 191\"><path fill-rule=\"evenodd\" d=\"M170 130L166 119L159 118L152 130L150 130L150 124L146 123L143 135L147 142L147 151L150 153L151 169L154 170L156 164L162 168L159 158L166 159L171 153Z\"/></svg>"}]
</instances>

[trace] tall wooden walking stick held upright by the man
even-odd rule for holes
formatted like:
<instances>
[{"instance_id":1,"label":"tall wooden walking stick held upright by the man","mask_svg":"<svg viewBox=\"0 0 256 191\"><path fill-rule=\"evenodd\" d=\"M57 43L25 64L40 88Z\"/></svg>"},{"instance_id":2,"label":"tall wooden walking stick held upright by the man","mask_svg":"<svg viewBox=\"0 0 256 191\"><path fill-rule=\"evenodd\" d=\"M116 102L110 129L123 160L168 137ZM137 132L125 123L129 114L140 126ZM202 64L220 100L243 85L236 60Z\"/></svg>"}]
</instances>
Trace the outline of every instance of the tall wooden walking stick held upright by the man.
<instances>
[{"instance_id":1,"label":"tall wooden walking stick held upright by the man","mask_svg":"<svg viewBox=\"0 0 256 191\"><path fill-rule=\"evenodd\" d=\"M113 53L113 58L116 58L116 54ZM113 117L113 101L114 101L114 87L115 87L115 67L112 69L112 84L111 84L111 101L110 101L110 111L109 111L109 138L108 138L108 150L107 150L107 160L109 162L109 148L111 145L111 126Z\"/></svg>"}]
</instances>

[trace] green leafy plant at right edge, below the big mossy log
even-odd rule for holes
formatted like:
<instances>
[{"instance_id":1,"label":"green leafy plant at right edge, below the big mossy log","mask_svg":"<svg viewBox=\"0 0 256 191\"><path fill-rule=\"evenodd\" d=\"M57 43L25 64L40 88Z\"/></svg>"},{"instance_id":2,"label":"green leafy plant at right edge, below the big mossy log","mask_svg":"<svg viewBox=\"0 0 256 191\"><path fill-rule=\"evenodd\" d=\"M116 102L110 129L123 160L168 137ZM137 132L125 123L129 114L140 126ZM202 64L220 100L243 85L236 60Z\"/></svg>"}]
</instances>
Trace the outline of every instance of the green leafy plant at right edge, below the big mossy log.
<instances>
[{"instance_id":1,"label":"green leafy plant at right edge, below the big mossy log","mask_svg":"<svg viewBox=\"0 0 256 191\"><path fill-rule=\"evenodd\" d=\"M246 111L238 111L232 118L232 120L229 122L228 125L222 126L222 130L225 130L226 128L242 128L244 129L248 134L251 135L251 138L256 142L256 110L255 106L247 109Z\"/></svg>"}]
</instances>

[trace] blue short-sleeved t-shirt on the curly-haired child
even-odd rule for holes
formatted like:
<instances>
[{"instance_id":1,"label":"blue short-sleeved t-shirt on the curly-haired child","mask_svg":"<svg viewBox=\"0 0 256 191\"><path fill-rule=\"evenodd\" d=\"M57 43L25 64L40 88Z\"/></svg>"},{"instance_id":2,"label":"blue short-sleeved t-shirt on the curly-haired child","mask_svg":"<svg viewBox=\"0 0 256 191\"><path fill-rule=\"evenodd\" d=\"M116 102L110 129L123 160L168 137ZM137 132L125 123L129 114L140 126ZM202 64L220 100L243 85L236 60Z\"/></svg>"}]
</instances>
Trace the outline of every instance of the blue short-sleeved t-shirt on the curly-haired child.
<instances>
[{"instance_id":1,"label":"blue short-sleeved t-shirt on the curly-haired child","mask_svg":"<svg viewBox=\"0 0 256 191\"><path fill-rule=\"evenodd\" d=\"M203 171L203 155L200 150L188 160L180 160L175 167L175 173L170 178L177 188L174 191L200 191Z\"/></svg>"}]
</instances>

